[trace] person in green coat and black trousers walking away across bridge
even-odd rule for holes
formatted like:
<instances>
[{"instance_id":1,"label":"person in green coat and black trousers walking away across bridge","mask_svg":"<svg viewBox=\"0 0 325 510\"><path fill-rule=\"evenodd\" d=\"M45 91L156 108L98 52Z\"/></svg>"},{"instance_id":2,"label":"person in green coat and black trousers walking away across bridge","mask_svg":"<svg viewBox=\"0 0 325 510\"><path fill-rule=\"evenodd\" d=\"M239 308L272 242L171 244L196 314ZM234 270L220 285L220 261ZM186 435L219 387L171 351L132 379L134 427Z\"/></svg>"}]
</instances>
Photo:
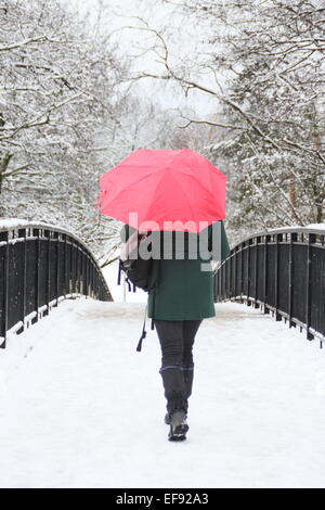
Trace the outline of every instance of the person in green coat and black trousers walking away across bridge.
<instances>
[{"instance_id":1,"label":"person in green coat and black trousers walking away across bridge","mask_svg":"<svg viewBox=\"0 0 325 510\"><path fill-rule=\"evenodd\" d=\"M134 230L125 225L121 239L126 241ZM157 257L156 252L157 258L153 259L151 283L156 282L157 286L155 292L148 293L147 316L154 321L160 343L159 373L167 400L165 422L169 425L168 438L184 441L194 381L195 337L203 320L216 316L210 260L224 260L230 246L222 220L198 234L176 231L153 234L156 234L156 238L153 235L153 252L158 246L159 254ZM209 258L205 257L207 252L210 253Z\"/></svg>"}]
</instances>

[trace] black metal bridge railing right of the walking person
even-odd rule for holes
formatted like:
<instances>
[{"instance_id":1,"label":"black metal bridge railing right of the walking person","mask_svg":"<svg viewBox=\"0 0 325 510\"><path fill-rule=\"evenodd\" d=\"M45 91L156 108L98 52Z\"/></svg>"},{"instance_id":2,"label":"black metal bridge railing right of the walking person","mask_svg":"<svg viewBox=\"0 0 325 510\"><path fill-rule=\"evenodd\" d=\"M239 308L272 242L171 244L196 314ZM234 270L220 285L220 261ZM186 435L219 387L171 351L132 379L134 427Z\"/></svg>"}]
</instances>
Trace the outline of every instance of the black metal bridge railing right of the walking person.
<instances>
[{"instance_id":1,"label":"black metal bridge railing right of the walking person","mask_svg":"<svg viewBox=\"0 0 325 510\"><path fill-rule=\"evenodd\" d=\"M325 230L274 229L240 241L219 265L214 302L238 301L289 327L308 340L325 340Z\"/></svg>"}]
</instances>

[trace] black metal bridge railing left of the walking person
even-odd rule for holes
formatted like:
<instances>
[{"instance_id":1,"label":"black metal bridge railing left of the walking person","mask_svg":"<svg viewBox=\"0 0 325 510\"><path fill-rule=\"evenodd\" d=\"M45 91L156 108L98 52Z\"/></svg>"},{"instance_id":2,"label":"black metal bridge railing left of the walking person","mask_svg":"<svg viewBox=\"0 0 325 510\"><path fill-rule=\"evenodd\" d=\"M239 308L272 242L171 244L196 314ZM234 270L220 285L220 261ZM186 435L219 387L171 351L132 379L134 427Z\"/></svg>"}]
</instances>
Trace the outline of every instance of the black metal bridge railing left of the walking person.
<instances>
[{"instance_id":1,"label":"black metal bridge railing left of the walking person","mask_svg":"<svg viewBox=\"0 0 325 510\"><path fill-rule=\"evenodd\" d=\"M0 228L0 347L64 298L112 301L101 268L72 233L42 224Z\"/></svg>"}]
</instances>

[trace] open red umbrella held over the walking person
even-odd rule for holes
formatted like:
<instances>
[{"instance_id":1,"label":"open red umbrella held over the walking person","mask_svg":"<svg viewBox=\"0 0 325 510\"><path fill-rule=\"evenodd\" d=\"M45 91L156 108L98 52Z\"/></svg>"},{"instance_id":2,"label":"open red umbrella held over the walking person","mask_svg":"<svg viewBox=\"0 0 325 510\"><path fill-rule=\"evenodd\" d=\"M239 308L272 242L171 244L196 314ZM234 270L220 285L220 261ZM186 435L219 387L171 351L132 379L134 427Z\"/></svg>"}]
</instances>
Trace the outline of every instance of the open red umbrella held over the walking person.
<instances>
[{"instance_id":1,"label":"open red umbrella held over the walking person","mask_svg":"<svg viewBox=\"0 0 325 510\"><path fill-rule=\"evenodd\" d=\"M136 230L199 232L225 217L226 176L190 149L140 149L100 184L101 212Z\"/></svg>"}]
</instances>

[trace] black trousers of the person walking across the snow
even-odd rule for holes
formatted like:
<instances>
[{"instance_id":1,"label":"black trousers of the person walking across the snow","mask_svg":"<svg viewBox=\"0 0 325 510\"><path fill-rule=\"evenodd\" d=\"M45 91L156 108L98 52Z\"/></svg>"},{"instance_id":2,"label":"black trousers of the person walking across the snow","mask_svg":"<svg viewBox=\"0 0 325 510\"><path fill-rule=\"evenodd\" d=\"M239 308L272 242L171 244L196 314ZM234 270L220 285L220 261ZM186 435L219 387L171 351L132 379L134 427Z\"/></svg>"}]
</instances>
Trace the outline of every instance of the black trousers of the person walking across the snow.
<instances>
[{"instance_id":1,"label":"black trousers of the person walking across the snow","mask_svg":"<svg viewBox=\"0 0 325 510\"><path fill-rule=\"evenodd\" d=\"M170 415L176 410L187 412L194 377L193 345L202 321L154 320L161 347L160 374Z\"/></svg>"}]
</instances>

